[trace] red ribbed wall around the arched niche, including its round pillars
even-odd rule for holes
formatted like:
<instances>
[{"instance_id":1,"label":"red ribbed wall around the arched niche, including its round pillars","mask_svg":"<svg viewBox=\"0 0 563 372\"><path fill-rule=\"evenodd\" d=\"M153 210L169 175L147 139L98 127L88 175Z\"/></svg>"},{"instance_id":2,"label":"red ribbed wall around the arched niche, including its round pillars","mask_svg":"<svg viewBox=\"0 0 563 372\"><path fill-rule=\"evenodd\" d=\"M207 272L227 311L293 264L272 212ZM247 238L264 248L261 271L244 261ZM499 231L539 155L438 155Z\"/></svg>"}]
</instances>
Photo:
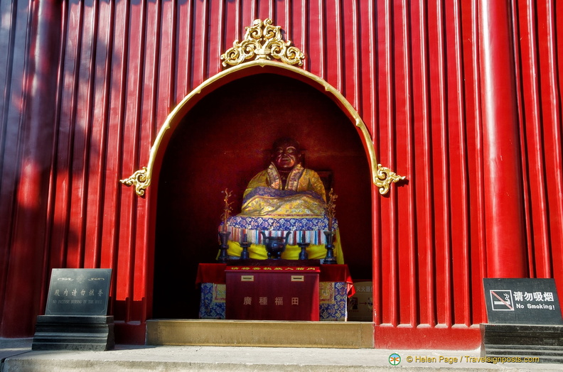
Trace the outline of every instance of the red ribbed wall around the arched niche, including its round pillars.
<instances>
[{"instance_id":1,"label":"red ribbed wall around the arched niche, including its round pillars","mask_svg":"<svg viewBox=\"0 0 563 372\"><path fill-rule=\"evenodd\" d=\"M33 334L50 268L110 267L117 337L143 341L155 195L118 181L245 26L272 18L408 179L372 187L376 345L478 346L483 277L563 287L562 8L1 1L0 337Z\"/></svg>"}]
</instances>

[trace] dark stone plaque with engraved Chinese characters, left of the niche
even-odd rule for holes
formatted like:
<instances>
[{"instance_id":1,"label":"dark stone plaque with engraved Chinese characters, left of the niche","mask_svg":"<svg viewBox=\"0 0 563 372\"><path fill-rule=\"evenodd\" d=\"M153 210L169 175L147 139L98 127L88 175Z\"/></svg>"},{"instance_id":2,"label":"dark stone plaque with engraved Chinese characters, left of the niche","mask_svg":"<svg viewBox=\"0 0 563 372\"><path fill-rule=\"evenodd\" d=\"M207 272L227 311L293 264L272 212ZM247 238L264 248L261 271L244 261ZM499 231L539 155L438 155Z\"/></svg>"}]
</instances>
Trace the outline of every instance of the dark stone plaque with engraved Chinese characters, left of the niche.
<instances>
[{"instance_id":1,"label":"dark stone plaque with engraved Chinese characters, left of the niche","mask_svg":"<svg viewBox=\"0 0 563 372\"><path fill-rule=\"evenodd\" d=\"M54 268L45 315L107 315L110 268Z\"/></svg>"}]
</instances>

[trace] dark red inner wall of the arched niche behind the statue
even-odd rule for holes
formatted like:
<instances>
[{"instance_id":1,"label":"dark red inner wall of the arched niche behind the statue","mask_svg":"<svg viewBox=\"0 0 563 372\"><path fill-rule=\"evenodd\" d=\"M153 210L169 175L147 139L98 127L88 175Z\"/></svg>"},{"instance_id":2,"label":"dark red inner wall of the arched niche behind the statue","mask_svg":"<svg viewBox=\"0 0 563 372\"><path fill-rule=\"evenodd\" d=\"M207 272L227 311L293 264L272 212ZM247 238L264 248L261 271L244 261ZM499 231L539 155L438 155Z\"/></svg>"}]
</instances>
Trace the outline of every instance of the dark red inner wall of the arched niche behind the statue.
<instances>
[{"instance_id":1,"label":"dark red inner wall of the arched niche behind the statue","mask_svg":"<svg viewBox=\"0 0 563 372\"><path fill-rule=\"evenodd\" d=\"M232 190L233 213L240 212L247 182L269 164L274 140L286 136L301 143L306 168L331 171L345 263L355 280L371 280L370 170L354 124L304 82L251 75L195 104L166 147L156 212L155 319L198 317L195 278L198 263L213 263L218 253L222 190Z\"/></svg>"}]
</instances>

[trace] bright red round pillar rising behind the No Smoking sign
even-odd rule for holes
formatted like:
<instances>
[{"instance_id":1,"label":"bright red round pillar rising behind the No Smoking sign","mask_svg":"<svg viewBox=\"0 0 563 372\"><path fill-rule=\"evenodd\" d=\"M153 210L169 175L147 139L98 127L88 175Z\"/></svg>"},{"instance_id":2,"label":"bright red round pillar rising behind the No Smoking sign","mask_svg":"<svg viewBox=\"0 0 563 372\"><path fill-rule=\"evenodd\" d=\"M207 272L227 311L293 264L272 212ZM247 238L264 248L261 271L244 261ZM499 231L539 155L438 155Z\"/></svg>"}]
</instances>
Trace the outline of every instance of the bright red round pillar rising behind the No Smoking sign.
<instances>
[{"instance_id":1,"label":"bright red round pillar rising behind the No Smoking sign","mask_svg":"<svg viewBox=\"0 0 563 372\"><path fill-rule=\"evenodd\" d=\"M490 0L483 0L479 7L484 175L489 186L485 202L487 269L490 277L497 278L527 275L508 8L508 3ZM510 246L506 236L512 237ZM506 260L513 264L504 265Z\"/></svg>"}]
</instances>

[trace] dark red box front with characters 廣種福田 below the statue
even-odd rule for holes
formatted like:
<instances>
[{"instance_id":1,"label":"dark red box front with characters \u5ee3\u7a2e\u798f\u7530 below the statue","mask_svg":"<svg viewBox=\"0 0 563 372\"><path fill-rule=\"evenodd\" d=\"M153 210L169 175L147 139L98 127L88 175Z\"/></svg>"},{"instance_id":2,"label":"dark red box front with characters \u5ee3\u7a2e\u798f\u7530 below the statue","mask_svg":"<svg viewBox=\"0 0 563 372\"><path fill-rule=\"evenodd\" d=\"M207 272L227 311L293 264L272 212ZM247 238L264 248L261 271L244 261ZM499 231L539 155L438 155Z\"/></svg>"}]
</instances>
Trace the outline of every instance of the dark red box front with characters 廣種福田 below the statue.
<instances>
[{"instance_id":1,"label":"dark red box front with characters \u5ee3\u7a2e\u798f\u7530 below the statue","mask_svg":"<svg viewBox=\"0 0 563 372\"><path fill-rule=\"evenodd\" d=\"M226 319L318 320L318 266L227 266Z\"/></svg>"}]
</instances>

